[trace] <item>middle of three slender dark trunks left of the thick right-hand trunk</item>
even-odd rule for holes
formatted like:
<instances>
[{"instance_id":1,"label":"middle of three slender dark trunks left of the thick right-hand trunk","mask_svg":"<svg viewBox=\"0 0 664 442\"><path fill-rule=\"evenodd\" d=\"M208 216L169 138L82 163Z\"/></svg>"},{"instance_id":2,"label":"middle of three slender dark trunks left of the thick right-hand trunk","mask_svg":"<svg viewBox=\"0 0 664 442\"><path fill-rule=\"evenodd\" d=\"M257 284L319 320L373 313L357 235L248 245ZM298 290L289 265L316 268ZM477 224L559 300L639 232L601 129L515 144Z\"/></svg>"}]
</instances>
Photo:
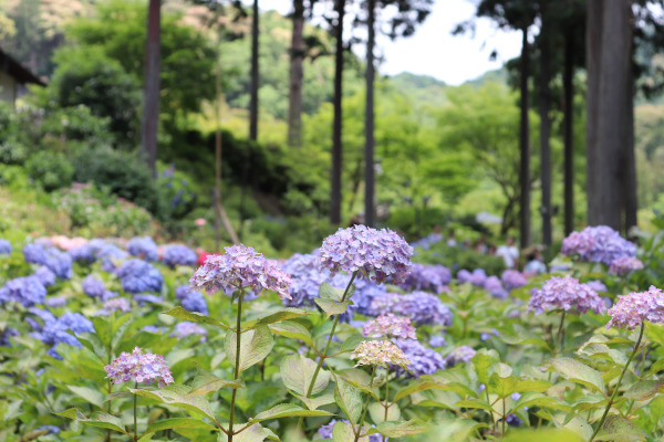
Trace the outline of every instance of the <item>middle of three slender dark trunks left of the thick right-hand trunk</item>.
<instances>
[{"instance_id":1,"label":"middle of three slender dark trunks left of the thick right-hand trunk","mask_svg":"<svg viewBox=\"0 0 664 442\"><path fill-rule=\"evenodd\" d=\"M540 212L542 215L542 243L551 245L551 149L549 138L551 135L551 120L549 119L550 93L549 80L551 72L549 70L549 39L548 19L546 11L542 11L542 28L540 40L540 173L542 182L542 206Z\"/></svg>"}]
</instances>

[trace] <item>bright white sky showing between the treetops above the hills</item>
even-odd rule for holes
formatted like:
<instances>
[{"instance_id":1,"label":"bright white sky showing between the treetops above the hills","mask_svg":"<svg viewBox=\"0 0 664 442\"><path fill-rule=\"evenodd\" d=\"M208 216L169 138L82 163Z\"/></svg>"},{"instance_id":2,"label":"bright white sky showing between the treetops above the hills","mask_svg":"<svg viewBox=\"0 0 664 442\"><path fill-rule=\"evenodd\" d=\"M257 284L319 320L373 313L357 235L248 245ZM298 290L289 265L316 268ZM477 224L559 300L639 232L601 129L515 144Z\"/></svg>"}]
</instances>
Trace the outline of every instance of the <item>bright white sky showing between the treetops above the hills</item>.
<instances>
[{"instance_id":1,"label":"bright white sky showing between the treetops above the hills","mask_svg":"<svg viewBox=\"0 0 664 442\"><path fill-rule=\"evenodd\" d=\"M292 0L262 0L261 3L261 8L276 9L282 14L292 9ZM384 75L402 72L430 75L459 85L501 67L519 54L521 34L499 30L488 19L477 20L474 34L452 35L455 25L470 19L474 12L469 0L436 0L433 12L413 36L396 41L378 39L376 55L383 59L378 71ZM495 61L489 60L492 50L498 52ZM362 51L357 53L363 56Z\"/></svg>"}]
</instances>

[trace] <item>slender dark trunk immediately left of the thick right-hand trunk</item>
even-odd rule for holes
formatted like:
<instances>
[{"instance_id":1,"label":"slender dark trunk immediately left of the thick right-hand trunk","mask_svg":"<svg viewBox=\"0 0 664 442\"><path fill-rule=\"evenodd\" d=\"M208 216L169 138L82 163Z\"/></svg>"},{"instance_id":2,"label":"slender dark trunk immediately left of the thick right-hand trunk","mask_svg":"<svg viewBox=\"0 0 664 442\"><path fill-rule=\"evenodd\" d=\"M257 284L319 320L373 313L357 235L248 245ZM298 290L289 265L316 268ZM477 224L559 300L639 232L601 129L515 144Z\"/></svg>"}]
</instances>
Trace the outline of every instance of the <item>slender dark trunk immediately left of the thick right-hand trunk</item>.
<instances>
[{"instance_id":1,"label":"slender dark trunk immediately left of the thick right-hand trunk","mask_svg":"<svg viewBox=\"0 0 664 442\"><path fill-rule=\"evenodd\" d=\"M564 234L569 235L574 230L574 146L573 109L574 109L574 30L568 31L564 38L564 69L562 73L562 88L564 95L563 107L563 143L564 143Z\"/></svg>"}]
</instances>

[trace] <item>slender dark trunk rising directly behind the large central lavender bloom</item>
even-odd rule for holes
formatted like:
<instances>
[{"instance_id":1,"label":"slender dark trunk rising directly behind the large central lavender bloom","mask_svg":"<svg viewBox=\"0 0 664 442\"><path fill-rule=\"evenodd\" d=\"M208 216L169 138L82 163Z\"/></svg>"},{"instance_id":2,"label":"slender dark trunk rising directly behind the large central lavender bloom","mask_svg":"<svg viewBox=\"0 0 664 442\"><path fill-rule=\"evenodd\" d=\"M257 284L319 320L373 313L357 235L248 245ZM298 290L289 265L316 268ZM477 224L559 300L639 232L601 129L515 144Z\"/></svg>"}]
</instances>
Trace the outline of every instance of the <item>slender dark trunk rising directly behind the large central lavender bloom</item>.
<instances>
[{"instance_id":1,"label":"slender dark trunk rising directly behind the large central lavender bloom","mask_svg":"<svg viewBox=\"0 0 664 442\"><path fill-rule=\"evenodd\" d=\"M375 224L375 177L374 177L374 46L376 1L369 0L369 39L366 41L366 107L364 109L364 224Z\"/></svg>"}]
</instances>

